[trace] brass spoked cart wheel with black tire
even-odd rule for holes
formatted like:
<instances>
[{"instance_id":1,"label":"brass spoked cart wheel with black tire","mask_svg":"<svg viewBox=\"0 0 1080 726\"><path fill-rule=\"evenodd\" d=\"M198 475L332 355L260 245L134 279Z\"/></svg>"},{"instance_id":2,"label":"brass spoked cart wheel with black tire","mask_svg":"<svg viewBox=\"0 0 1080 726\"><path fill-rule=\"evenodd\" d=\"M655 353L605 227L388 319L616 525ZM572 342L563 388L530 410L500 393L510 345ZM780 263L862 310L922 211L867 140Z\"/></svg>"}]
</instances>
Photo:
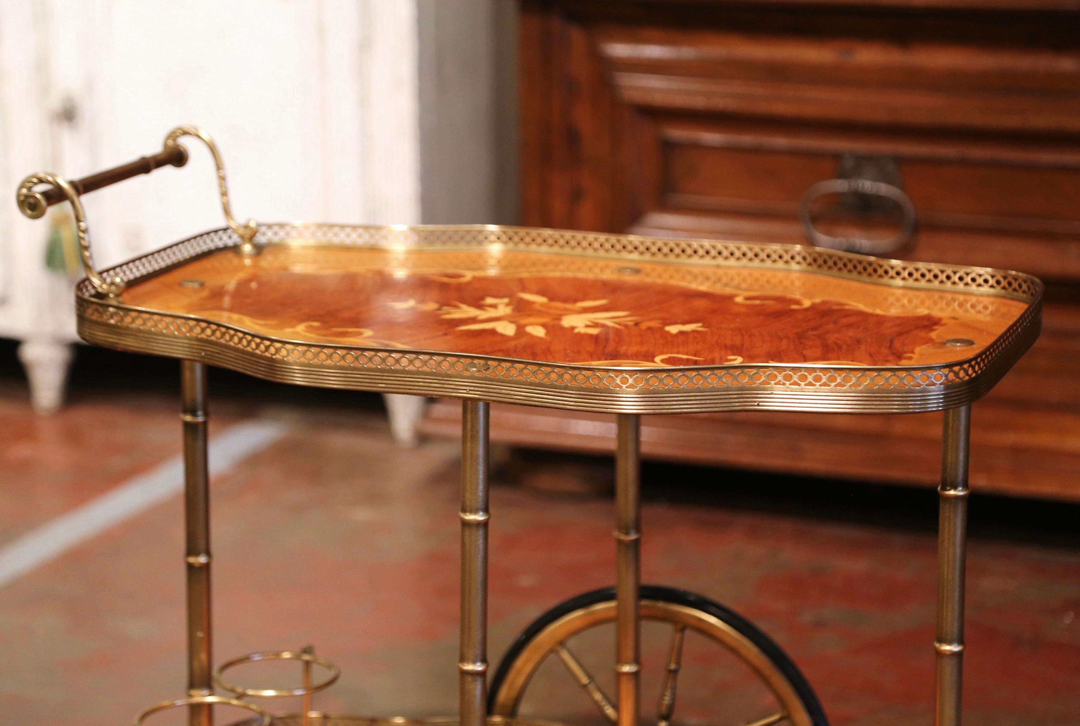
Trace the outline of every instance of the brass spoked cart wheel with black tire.
<instances>
[{"instance_id":1,"label":"brass spoked cart wheel with black tire","mask_svg":"<svg viewBox=\"0 0 1080 726\"><path fill-rule=\"evenodd\" d=\"M792 726L828 726L818 697L792 659L768 635L740 615L692 592L659 586L642 586L640 617L643 646L646 628L649 628L649 635L656 634L656 627L649 627L647 623L659 622L671 626L666 646L666 669L660 683L660 696L656 707L658 726L670 726L672 723L676 682L684 660L684 643L689 643L686 637L688 632L698 633L703 637L690 638L692 651L686 659L687 673L683 674L680 687L687 685L686 676L691 672L691 663L700 671L710 668L723 669L721 661L726 658L729 662L741 661L764 688L758 700L745 702L745 698L737 698L740 694L745 694L746 689L742 683L738 689L732 688L730 694L718 690L723 684L706 683L704 685L708 688L707 693L715 694L711 698L711 703L723 708L717 709L718 713L703 714L697 713L701 704L696 703L693 704L696 712L692 716L688 714L687 721L745 726L770 726L780 723ZM607 630L608 637L613 637L615 619L615 588L594 590L571 597L537 618L514 641L499 663L499 669L491 680L489 713L497 716L516 716L523 700L526 702L525 708L530 712L540 710L543 703L564 707L568 699L549 693L554 686L548 684L537 698L526 698L526 690L534 675L548 656L555 654L557 660L563 662L603 716L608 722L615 723L618 715L615 702L604 694L600 685L593 680L585 666L570 649L570 642L573 638L586 631L594 631L585 635L581 643L584 645L592 638L592 649L595 651L599 646L595 638L603 637L598 631ZM715 648L717 643L724 646L724 649ZM711 648L712 653L710 646L714 646ZM745 672L744 669L740 670ZM612 671L613 668L605 668L605 675ZM645 685L648 685L648 682ZM534 701L539 702L534 703ZM643 698L643 703L647 701ZM732 714L732 709L739 707L754 712L745 713L745 717L741 713ZM643 705L643 710L647 708ZM553 717L541 713L530 715L538 718Z\"/></svg>"}]
</instances>

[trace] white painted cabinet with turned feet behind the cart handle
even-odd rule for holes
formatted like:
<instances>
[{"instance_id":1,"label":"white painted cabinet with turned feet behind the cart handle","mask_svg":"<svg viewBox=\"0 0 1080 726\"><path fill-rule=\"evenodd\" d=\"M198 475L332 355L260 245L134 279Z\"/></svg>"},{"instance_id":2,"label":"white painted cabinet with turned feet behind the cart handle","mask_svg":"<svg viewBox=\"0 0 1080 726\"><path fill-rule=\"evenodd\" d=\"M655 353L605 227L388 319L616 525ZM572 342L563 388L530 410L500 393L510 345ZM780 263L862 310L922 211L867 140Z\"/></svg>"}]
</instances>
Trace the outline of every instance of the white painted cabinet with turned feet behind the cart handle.
<instances>
[{"instance_id":1,"label":"white painted cabinet with turned feet behind the cart handle","mask_svg":"<svg viewBox=\"0 0 1080 726\"><path fill-rule=\"evenodd\" d=\"M0 336L24 341L36 406L60 403L75 326L49 225L13 202L25 175L83 176L191 123L217 140L241 219L416 224L422 199L438 221L497 220L499 3L0 0ZM446 59L471 77L444 80ZM84 198L98 267L222 225L210 154L186 145L187 166ZM438 160L462 152L441 192Z\"/></svg>"}]
</instances>

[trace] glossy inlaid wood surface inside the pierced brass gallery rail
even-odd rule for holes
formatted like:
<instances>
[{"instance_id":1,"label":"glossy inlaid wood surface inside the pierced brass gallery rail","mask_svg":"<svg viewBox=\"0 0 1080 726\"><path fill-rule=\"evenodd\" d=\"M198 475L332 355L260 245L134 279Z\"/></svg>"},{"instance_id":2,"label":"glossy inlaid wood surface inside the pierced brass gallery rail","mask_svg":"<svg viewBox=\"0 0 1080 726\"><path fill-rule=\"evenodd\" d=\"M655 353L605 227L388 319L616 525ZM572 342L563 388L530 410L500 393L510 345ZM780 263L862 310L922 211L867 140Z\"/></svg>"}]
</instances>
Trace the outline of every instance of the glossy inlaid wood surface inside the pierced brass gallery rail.
<instances>
[{"instance_id":1,"label":"glossy inlaid wood surface inside the pierced brass gallery rail","mask_svg":"<svg viewBox=\"0 0 1080 726\"><path fill-rule=\"evenodd\" d=\"M123 301L305 342L610 366L950 363L1026 307L777 269L305 244L220 251Z\"/></svg>"}]
</instances>

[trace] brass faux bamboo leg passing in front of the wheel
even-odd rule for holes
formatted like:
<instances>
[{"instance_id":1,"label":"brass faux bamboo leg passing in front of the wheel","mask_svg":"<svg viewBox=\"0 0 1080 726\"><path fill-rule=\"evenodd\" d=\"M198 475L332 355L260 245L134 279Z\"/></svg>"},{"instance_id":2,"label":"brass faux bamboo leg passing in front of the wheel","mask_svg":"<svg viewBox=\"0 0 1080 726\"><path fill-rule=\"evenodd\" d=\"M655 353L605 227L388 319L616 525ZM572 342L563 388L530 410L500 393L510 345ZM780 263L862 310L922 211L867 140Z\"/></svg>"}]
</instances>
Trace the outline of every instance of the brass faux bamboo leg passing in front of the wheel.
<instances>
[{"instance_id":1,"label":"brass faux bamboo leg passing in front of the wheel","mask_svg":"<svg viewBox=\"0 0 1080 726\"><path fill-rule=\"evenodd\" d=\"M616 684L619 726L637 726L642 583L640 417L620 414L616 444Z\"/></svg>"}]
</instances>

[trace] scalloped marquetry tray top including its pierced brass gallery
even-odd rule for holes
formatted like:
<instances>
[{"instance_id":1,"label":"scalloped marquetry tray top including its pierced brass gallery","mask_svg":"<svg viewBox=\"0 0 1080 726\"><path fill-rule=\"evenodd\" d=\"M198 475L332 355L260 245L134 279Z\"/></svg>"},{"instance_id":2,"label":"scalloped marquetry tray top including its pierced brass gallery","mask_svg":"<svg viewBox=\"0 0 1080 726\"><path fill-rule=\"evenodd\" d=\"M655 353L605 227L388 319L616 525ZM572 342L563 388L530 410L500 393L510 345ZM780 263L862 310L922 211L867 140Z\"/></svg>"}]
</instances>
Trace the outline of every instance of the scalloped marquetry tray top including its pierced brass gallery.
<instances>
[{"instance_id":1,"label":"scalloped marquetry tray top including its pierced brass gallery","mask_svg":"<svg viewBox=\"0 0 1080 726\"><path fill-rule=\"evenodd\" d=\"M301 385L626 413L932 411L1039 332L1016 273L505 227L216 230L83 284L81 335Z\"/></svg>"}]
</instances>

